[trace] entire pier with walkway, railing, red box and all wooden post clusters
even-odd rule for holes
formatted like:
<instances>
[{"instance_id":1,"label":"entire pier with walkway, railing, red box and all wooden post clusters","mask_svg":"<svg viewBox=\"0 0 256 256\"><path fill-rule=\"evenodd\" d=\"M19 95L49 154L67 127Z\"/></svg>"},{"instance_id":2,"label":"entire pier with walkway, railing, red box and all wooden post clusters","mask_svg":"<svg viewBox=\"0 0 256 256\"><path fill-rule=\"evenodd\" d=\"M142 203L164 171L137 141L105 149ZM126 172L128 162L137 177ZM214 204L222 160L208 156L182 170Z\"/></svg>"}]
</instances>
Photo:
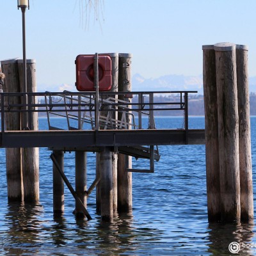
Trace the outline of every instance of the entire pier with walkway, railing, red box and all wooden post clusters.
<instances>
[{"instance_id":1,"label":"entire pier with walkway, railing, red box and all wooden post clusters","mask_svg":"<svg viewBox=\"0 0 256 256\"><path fill-rule=\"evenodd\" d=\"M36 148L46 147L52 151L54 215L63 214L65 182L76 200L77 218L91 219L86 201L96 187L97 214L102 221L112 221L118 212L132 210L132 172L153 173L155 161L161 161L159 145L205 144L209 221L253 220L248 47L221 43L204 45L203 50L205 130L189 129L189 93L195 91L132 92L131 54L77 56L76 86L85 92L76 93L36 93L33 86L22 92L19 61L5 62L3 70L12 75L6 76L9 91L0 93L0 147L6 148L8 158L8 200L38 200L38 170L36 164L33 169L26 163L33 164L35 158L29 152L36 154ZM99 79L100 58L108 63L103 80ZM33 61L29 65L34 84ZM86 83L95 92L88 92ZM108 92L99 92L100 86L107 86ZM157 95L168 100L157 102ZM158 111L165 111L165 116L180 111L184 124L157 129ZM42 114L47 116L48 129L36 131L32 124ZM66 121L65 127L52 122L56 117ZM76 152L76 189L64 172L63 152L67 151ZM86 152L90 151L97 153L97 166L95 180L87 186ZM148 159L148 167L132 168L131 157Z\"/></svg>"}]
</instances>

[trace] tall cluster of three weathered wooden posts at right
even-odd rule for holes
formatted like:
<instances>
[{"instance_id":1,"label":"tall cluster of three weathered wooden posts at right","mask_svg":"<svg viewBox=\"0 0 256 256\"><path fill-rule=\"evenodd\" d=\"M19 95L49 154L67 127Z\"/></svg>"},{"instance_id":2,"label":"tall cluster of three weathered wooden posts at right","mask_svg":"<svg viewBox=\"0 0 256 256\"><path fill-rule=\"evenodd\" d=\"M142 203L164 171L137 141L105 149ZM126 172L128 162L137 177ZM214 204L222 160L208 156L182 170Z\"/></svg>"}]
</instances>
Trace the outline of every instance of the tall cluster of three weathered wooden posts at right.
<instances>
[{"instance_id":1,"label":"tall cluster of three weathered wooden posts at right","mask_svg":"<svg viewBox=\"0 0 256 256\"><path fill-rule=\"evenodd\" d=\"M253 195L248 49L245 45L220 43L204 45L203 50L209 221L249 221L253 218ZM213 102L214 93L218 104ZM219 195L220 208L216 204Z\"/></svg>"}]
</instances>

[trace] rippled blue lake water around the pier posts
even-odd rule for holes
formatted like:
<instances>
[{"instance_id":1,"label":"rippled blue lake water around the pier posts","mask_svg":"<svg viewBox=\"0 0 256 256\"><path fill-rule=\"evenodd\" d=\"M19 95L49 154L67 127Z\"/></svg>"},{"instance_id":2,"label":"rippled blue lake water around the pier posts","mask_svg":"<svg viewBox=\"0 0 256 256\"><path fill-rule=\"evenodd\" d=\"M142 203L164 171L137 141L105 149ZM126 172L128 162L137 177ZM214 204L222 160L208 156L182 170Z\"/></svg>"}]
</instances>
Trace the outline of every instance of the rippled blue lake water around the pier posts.
<instances>
[{"instance_id":1,"label":"rippled blue lake water around the pier posts","mask_svg":"<svg viewBox=\"0 0 256 256\"><path fill-rule=\"evenodd\" d=\"M39 122L44 129L45 118ZM256 191L256 117L251 125ZM156 126L180 128L182 118L156 118ZM189 118L189 128L203 129L204 118ZM1 149L0 255L231 255L231 242L256 244L254 223L208 223L204 145L161 146L159 150L161 159L154 173L132 174L132 214L107 224L95 214L95 191L88 198L92 221L76 220L74 199L67 188L65 214L53 217L51 152L46 148L40 149L40 204L8 204ZM141 160L133 163L138 168L145 165ZM90 186L95 179L93 153L88 153L87 172ZM74 185L74 153L65 154L65 173ZM256 255L254 249L241 255Z\"/></svg>"}]
</instances>

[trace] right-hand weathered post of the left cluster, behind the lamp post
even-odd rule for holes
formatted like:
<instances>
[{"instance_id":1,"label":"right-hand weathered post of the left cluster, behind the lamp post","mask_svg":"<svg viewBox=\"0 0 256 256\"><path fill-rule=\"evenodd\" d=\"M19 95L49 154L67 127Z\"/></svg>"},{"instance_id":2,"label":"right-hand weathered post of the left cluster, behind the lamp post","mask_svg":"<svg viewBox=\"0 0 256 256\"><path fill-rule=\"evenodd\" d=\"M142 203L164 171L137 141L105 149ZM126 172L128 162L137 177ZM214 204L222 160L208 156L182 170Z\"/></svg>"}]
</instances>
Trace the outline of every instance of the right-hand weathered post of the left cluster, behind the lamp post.
<instances>
[{"instance_id":1,"label":"right-hand weathered post of the left cluster, behind the lamp post","mask_svg":"<svg viewBox=\"0 0 256 256\"><path fill-rule=\"evenodd\" d=\"M20 92L25 92L25 86L23 84L23 60L18 60L19 65L19 79L20 79ZM36 61L27 60L27 90L28 93L36 92ZM24 97L21 101L23 102ZM36 103L36 99L28 97L28 103ZM38 113L31 112L33 109L28 108L28 124L29 129L32 131L38 131ZM27 118L26 112L21 115L22 129L27 129L24 120ZM22 174L24 185L24 201L25 202L37 202L39 200L39 148L22 148Z\"/></svg>"}]
</instances>

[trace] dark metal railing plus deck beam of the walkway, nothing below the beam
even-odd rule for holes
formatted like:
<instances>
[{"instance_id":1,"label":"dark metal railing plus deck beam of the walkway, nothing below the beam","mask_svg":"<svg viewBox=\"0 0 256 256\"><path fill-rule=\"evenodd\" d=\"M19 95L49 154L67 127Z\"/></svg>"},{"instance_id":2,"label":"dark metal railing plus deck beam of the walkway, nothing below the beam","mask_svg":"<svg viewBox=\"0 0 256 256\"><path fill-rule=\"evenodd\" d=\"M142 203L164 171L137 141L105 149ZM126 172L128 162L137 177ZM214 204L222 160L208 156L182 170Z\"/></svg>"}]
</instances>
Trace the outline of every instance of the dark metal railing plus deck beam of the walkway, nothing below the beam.
<instances>
[{"instance_id":1,"label":"dark metal railing plus deck beam of the walkway, nothing below the beam","mask_svg":"<svg viewBox=\"0 0 256 256\"><path fill-rule=\"evenodd\" d=\"M168 94L174 94L180 95L180 100L178 102L155 102L154 101L154 96L159 95L160 93L164 93L165 95ZM170 91L170 92L131 92L129 93L130 97L133 97L133 101L134 100L138 100L138 102L118 102L118 103L113 103L111 104L111 107L113 107L113 109L116 109L116 106L118 106L119 108L124 107L125 109L128 111L136 111L138 113L138 117L139 117L139 124L138 124L138 128L136 130L131 130L131 131L124 131L124 132L117 132L118 130L114 129L110 129L108 130L108 136L110 136L110 140L109 138L106 138L104 136L104 134L106 134L107 131L96 131L95 130L84 130L81 131L81 138L89 138L90 136L92 136L92 140L88 140L88 141L93 141L91 147L104 147L104 145L108 145L108 146L116 146L116 141L118 141L118 146L120 145L135 145L134 143L137 143L137 145L172 145L172 141L170 141L170 138L172 138L173 141L175 141L175 143L180 143L180 144L188 144L188 143L204 143L204 132L200 132L200 136L198 136L198 133L196 133L196 135L193 135L193 132L191 133L191 131L189 130L189 124L188 124L188 93L196 93L195 91ZM24 97L24 95L28 95L28 104L26 106L24 106L24 102L20 103L20 104L10 104L10 99L11 97ZM124 95L127 93L121 93L121 92L115 92L115 93L111 93L111 92L99 92L99 97L102 99L103 96L105 95ZM83 100L81 100L81 97L84 97L84 95L87 95L88 97L88 102L83 102ZM60 132L60 134L58 134L58 136L63 136L63 140L67 141L67 145L63 145L63 142L61 142L61 140L58 140L56 138L52 140L52 143L50 143L49 140L45 140L46 137L51 138L52 133L49 131L46 132L42 132L42 131L5 131L4 128L4 113L12 113L12 112L24 112L24 111L31 111L31 112L38 112L38 113L42 113L45 112L46 113L46 108L51 109L52 112L54 113L63 113L63 112L67 112L67 108L68 111L70 112L78 112L81 113L81 111L84 111L83 108L84 107L88 107L90 108L90 111L95 111L95 102L93 102L92 99L95 99L95 92L88 92L88 93L84 93L84 92L63 92L63 93L52 93L52 92L44 92L44 93L1 93L1 147L10 147L10 145L17 145L19 144L19 147L45 147L47 143L49 143L49 145L47 145L46 147L83 147L81 145L81 143L79 143L79 138L78 139L74 139L74 145L72 144L72 139L71 141L67 141L67 138L71 138L72 136L74 136L74 138L77 136L77 134L75 134L72 131L62 131ZM70 97L69 102L56 102L54 103L54 101L52 100L54 97ZM145 102L144 97L147 96L148 97L148 102ZM36 98L47 98L48 101L45 103L37 103L36 102ZM80 102L78 103L77 100L80 100ZM100 100L99 100L100 101ZM31 103L33 102L33 103ZM128 105L127 105L128 104ZM108 104L105 104L108 105ZM27 107L27 108L24 108ZM27 110L28 109L28 110ZM154 127L154 111L157 110L164 110L164 111L172 111L172 110L180 110L180 111L184 111L185 115L184 115L184 129L179 129L179 130L171 130L169 132L166 133L166 131L162 131L162 130L155 130ZM100 110L100 109L99 109ZM120 111L120 109L118 109ZM141 130L141 115L147 113L147 115L149 116L149 127L147 127L147 129L143 129ZM141 131L140 131L141 130ZM140 132L139 132L140 131ZM150 136L152 136L152 132L148 132L148 131L152 131L154 132L154 136L155 138L158 138L157 140L159 140L159 143L157 143L156 140L154 140L154 138L151 138ZM168 131L168 130L167 130ZM172 131L172 132L171 132ZM28 136L25 135L26 132L30 132L29 136L31 136L31 138L34 138L35 143L31 143L29 141L26 141L26 139L28 140ZM135 132L135 133L134 133ZM131 136L132 134L132 140L136 140L136 141L129 141L129 136ZM19 138L15 137L14 134L19 134ZM44 135L43 135L44 134ZM83 135L82 135L83 134ZM119 134L119 135L117 135ZM122 135L121 135L122 134ZM129 135L128 135L129 134ZM141 138L138 138L138 136L136 136L136 134L140 134L140 136L142 136ZM144 134L144 135L143 135ZM177 134L177 138L178 141L175 139L175 135ZM71 137L70 137L71 136ZM85 136L85 137L84 137ZM103 137L102 137L103 136ZM120 136L120 138L122 138L121 140L118 140L117 136ZM128 136L128 137L127 137ZM167 143L164 143L163 137L166 138ZM13 141L12 138L15 138L15 143ZM60 138L60 137L58 137ZM65 139L64 139L65 138ZM98 139L99 138L99 139ZM195 141L193 141L195 138ZM9 141L8 141L9 140ZM40 140L42 140L42 142L40 142ZM184 141L185 140L185 141ZM45 143L47 141L47 143ZM75 142L76 141L76 142ZM122 141L123 144L122 144ZM146 142L148 141L148 143ZM141 144L141 143L145 143L145 144ZM84 147L90 147L88 145L88 143L84 143ZM152 150L153 151L153 150Z\"/></svg>"}]
</instances>

